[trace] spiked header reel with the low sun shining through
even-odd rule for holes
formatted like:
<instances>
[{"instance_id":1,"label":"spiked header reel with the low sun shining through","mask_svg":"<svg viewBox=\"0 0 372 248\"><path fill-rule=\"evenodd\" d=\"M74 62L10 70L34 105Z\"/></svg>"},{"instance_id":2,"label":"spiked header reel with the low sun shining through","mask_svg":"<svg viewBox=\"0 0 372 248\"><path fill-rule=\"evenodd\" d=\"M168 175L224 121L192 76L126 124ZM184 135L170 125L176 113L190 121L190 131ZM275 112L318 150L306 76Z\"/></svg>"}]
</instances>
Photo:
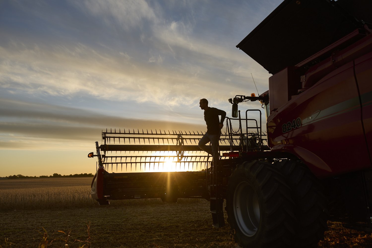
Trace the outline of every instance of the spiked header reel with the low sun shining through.
<instances>
[{"instance_id":1,"label":"spiked header reel with the low sun shining through","mask_svg":"<svg viewBox=\"0 0 372 248\"><path fill-rule=\"evenodd\" d=\"M199 140L204 132L116 129L102 132L103 144L98 146L99 166L108 171L198 171L209 167L212 156L202 151ZM233 138L239 143L238 135ZM229 136L224 133L219 140L221 152L230 151ZM235 147L237 148L237 147ZM102 153L102 155L100 155Z\"/></svg>"}]
</instances>

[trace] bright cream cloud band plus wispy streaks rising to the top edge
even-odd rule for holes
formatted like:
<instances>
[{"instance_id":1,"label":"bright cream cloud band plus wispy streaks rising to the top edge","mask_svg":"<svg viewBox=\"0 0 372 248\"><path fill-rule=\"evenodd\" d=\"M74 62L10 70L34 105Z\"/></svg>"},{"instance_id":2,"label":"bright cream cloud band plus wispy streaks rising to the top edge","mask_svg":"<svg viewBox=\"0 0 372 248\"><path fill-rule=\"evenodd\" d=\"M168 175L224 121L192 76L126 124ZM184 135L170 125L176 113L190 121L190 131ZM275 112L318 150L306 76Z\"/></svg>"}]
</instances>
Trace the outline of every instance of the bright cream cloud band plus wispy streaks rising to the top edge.
<instances>
[{"instance_id":1,"label":"bright cream cloud band plus wispy streaks rising to the top edge","mask_svg":"<svg viewBox=\"0 0 372 248\"><path fill-rule=\"evenodd\" d=\"M125 39L124 49L118 52L107 46L100 49L101 46L87 41L49 44L10 40L0 48L1 87L30 94L84 93L104 99L189 106L199 98L196 91L208 98L229 98L225 94L226 81L231 82L228 86L231 91L240 91L252 71L259 84L267 84L266 71L243 52L234 46L222 46L224 42L197 36L195 29L199 23L193 15L168 20L165 10L145 1L71 4L90 18L105 20L106 28L122 28L120 37L146 31L143 44L126 44ZM196 12L198 4L183 7ZM134 34L130 30L135 30ZM113 31L110 34L114 35Z\"/></svg>"}]
</instances>

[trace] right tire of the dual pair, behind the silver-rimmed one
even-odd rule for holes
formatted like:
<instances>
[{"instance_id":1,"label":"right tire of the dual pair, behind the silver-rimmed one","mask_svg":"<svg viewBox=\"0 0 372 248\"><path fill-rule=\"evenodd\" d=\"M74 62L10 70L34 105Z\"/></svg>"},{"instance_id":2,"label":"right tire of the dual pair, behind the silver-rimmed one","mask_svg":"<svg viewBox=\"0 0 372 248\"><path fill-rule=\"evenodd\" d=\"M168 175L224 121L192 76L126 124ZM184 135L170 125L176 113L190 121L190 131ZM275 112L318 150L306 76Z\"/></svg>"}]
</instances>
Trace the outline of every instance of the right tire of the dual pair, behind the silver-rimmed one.
<instances>
[{"instance_id":1,"label":"right tire of the dual pair, behind the silver-rimmed one","mask_svg":"<svg viewBox=\"0 0 372 248\"><path fill-rule=\"evenodd\" d=\"M274 166L285 176L295 201L295 230L293 247L317 247L327 230L327 198L321 181L299 161L282 160Z\"/></svg>"}]
</instances>

